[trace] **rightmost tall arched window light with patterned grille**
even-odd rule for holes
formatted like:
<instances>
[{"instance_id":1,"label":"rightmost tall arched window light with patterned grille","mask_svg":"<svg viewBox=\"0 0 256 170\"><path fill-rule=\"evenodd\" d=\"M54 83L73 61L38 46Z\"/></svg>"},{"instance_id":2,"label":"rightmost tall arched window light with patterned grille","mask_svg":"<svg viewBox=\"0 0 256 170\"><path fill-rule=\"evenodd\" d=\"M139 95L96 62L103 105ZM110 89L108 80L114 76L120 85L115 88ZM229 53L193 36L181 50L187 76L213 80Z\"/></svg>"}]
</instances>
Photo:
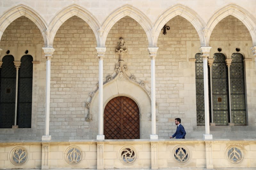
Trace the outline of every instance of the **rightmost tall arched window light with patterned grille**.
<instances>
[{"instance_id":1,"label":"rightmost tall arched window light with patterned grille","mask_svg":"<svg viewBox=\"0 0 256 170\"><path fill-rule=\"evenodd\" d=\"M246 125L243 55L233 53L230 66L232 120L235 125Z\"/></svg>"}]
</instances>

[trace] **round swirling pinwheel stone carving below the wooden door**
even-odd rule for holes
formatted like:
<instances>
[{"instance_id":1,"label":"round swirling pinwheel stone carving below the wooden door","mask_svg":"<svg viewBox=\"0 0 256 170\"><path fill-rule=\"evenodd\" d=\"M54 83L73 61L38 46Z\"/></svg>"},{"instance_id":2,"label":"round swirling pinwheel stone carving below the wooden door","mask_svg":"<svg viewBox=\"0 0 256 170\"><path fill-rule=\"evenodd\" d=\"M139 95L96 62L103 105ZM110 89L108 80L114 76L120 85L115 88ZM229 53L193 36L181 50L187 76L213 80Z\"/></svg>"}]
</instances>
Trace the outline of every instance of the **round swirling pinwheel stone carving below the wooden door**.
<instances>
[{"instance_id":1,"label":"round swirling pinwheel stone carving below the wooden door","mask_svg":"<svg viewBox=\"0 0 256 170\"><path fill-rule=\"evenodd\" d=\"M123 164L132 165L137 159L137 153L132 146L124 146L119 151L118 157Z\"/></svg>"}]
</instances>

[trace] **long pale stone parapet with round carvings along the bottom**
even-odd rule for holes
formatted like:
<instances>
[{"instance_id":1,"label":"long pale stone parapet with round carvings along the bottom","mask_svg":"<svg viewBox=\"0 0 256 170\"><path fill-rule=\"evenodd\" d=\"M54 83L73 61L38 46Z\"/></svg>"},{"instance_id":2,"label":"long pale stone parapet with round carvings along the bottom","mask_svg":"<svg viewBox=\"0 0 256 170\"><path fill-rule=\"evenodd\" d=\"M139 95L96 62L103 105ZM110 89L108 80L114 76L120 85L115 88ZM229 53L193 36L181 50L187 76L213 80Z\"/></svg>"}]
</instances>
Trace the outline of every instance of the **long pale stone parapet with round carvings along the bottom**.
<instances>
[{"instance_id":1,"label":"long pale stone parapet with round carvings along the bottom","mask_svg":"<svg viewBox=\"0 0 256 170\"><path fill-rule=\"evenodd\" d=\"M23 165L11 163L12 155L18 158L18 152L15 153L14 148L22 148L26 151L27 159L20 161L25 162ZM1 169L40 169L41 167L43 169L151 169L153 167L174 169L179 167L184 170L205 168L220 170L229 167L247 170L256 168L255 140L7 142L0 143L0 154Z\"/></svg>"}]
</instances>

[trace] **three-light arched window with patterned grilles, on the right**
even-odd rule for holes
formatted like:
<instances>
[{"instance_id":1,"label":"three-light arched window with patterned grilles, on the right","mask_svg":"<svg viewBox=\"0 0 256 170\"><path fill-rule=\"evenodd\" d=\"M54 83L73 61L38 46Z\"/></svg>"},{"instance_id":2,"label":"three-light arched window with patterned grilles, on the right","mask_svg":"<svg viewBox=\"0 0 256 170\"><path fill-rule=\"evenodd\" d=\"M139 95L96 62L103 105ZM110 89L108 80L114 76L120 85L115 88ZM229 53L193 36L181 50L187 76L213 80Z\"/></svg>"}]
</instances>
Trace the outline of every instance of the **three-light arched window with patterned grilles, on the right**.
<instances>
[{"instance_id":1,"label":"three-light arched window with patterned grilles, on the right","mask_svg":"<svg viewBox=\"0 0 256 170\"><path fill-rule=\"evenodd\" d=\"M196 119L197 125L204 125L204 73L203 60L200 53L196 56ZM228 98L228 67L226 66L225 55L215 53L212 64L212 111L210 122L215 125L228 125L229 122L235 125L246 125L245 90L244 90L244 63L243 55L234 53L231 56L230 66L230 95ZM208 67L209 68L209 67ZM209 73L209 72L208 72ZM210 76L208 76L210 87ZM209 90L209 93L211 91ZM209 94L209 104L211 103ZM231 113L229 109L231 101ZM211 107L209 105L209 107ZM231 116L230 116L231 115ZM230 117L232 120L230 120Z\"/></svg>"}]
</instances>

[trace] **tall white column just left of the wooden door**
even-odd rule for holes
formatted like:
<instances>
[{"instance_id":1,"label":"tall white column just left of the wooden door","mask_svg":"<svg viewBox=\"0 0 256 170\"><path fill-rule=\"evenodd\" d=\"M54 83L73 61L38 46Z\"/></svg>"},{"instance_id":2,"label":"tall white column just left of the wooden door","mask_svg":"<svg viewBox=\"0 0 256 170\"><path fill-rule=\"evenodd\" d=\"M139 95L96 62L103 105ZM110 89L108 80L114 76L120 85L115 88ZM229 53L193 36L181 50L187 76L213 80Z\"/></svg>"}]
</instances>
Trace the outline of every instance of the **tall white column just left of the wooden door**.
<instances>
[{"instance_id":1,"label":"tall white column just left of the wooden door","mask_svg":"<svg viewBox=\"0 0 256 170\"><path fill-rule=\"evenodd\" d=\"M99 57L99 135L97 140L104 140L103 135L103 58L105 56L106 47L96 47Z\"/></svg>"}]
</instances>

